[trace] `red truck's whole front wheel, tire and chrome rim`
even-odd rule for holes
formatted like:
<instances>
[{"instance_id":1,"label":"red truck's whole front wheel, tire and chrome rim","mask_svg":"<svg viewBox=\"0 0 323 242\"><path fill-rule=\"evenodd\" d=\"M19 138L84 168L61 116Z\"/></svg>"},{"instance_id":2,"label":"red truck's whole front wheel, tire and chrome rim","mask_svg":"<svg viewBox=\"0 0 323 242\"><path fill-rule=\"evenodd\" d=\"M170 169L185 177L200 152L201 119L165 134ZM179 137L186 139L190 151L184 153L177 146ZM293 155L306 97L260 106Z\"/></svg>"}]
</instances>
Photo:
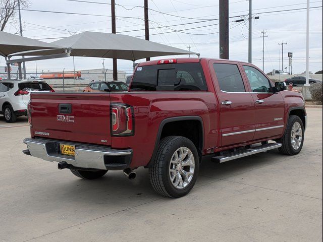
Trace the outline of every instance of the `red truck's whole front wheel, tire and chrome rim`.
<instances>
[{"instance_id":1,"label":"red truck's whole front wheel, tire and chrome rim","mask_svg":"<svg viewBox=\"0 0 323 242\"><path fill-rule=\"evenodd\" d=\"M291 115L288 119L285 135L279 140L282 147L279 151L284 155L296 155L303 147L304 126L299 116Z\"/></svg>"}]
</instances>

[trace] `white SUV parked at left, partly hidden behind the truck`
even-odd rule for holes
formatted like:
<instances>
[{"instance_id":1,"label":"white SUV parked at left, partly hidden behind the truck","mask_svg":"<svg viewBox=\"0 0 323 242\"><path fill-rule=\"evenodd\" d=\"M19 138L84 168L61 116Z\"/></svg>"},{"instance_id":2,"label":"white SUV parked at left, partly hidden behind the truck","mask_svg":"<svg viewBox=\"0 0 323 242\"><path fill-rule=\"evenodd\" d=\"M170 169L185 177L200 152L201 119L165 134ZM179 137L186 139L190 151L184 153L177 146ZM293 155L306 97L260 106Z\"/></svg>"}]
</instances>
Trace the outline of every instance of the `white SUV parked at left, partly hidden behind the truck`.
<instances>
[{"instance_id":1,"label":"white SUV parked at left, partly hidden behind the truck","mask_svg":"<svg viewBox=\"0 0 323 242\"><path fill-rule=\"evenodd\" d=\"M45 82L26 80L0 80L0 114L6 122L14 123L17 117L27 114L30 92L53 92Z\"/></svg>"}]
</instances>

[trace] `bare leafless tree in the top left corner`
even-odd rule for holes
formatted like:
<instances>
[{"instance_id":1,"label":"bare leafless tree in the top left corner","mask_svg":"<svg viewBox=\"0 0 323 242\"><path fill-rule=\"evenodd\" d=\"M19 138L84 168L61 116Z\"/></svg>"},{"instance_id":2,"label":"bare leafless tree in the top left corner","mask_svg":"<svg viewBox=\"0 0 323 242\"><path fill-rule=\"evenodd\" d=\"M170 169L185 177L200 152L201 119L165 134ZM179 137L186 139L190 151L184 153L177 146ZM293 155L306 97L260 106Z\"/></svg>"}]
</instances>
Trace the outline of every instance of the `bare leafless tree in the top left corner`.
<instances>
[{"instance_id":1,"label":"bare leafless tree in the top left corner","mask_svg":"<svg viewBox=\"0 0 323 242\"><path fill-rule=\"evenodd\" d=\"M3 31L9 20L17 14L18 2L21 9L30 6L29 0L0 0L0 31Z\"/></svg>"}]
</instances>

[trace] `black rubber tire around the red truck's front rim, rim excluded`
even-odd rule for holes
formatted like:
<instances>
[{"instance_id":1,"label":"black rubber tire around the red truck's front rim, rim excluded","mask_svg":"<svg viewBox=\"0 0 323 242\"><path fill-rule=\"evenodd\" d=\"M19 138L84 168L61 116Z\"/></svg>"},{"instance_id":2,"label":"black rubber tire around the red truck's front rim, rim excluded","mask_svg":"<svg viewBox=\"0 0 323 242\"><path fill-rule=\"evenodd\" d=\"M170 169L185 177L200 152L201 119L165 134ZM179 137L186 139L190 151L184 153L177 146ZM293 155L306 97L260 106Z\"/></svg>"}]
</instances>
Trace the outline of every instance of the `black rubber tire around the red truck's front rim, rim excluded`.
<instances>
[{"instance_id":1,"label":"black rubber tire around the red truck's front rim, rim excluded","mask_svg":"<svg viewBox=\"0 0 323 242\"><path fill-rule=\"evenodd\" d=\"M302 129L302 141L298 149L293 148L292 141L291 141L292 128L296 122L300 124ZM282 147L279 148L279 151L284 155L297 155L302 150L303 143L304 143L304 126L299 116L296 116L296 115L289 116L285 134L280 140L278 140L278 142L282 143Z\"/></svg>"}]
</instances>

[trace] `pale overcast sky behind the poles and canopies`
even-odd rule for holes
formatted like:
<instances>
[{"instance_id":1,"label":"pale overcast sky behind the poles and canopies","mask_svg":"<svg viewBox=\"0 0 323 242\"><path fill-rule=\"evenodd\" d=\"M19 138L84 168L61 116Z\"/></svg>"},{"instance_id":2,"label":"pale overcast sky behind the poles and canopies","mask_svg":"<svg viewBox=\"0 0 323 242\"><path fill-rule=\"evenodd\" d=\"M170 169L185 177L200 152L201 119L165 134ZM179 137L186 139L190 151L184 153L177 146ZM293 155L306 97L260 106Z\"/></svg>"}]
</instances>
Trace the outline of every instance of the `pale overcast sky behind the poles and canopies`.
<instances>
[{"instance_id":1,"label":"pale overcast sky behind the poles and canopies","mask_svg":"<svg viewBox=\"0 0 323 242\"><path fill-rule=\"evenodd\" d=\"M23 36L53 42L84 31L111 33L110 0L83 0L105 4L81 3L68 0L31 0L29 10L83 13L103 16L60 14L21 11ZM117 33L144 39L143 0L116 0ZM248 61L247 0L229 1L230 59ZM139 6L139 7L136 7ZM310 7L320 7L322 1L310 1ZM211 0L148 0L150 40L182 49L198 52L201 57L219 58L219 2ZM293 52L293 74L305 71L306 63L306 0L253 0L252 63L262 69L262 38L264 38L264 72L282 69L282 45L284 45L284 68L288 67L288 52ZM281 11L281 12L275 12ZM159 13L162 12L162 13ZM265 13L264 13L265 12ZM271 13L268 13L271 12ZM105 15L105 16L104 16ZM199 22L199 23L196 23ZM174 26L175 25L175 26ZM171 26L171 27L163 27ZM174 31L177 30L177 31ZM19 33L18 15L7 25L6 32ZM126 32L129 31L129 32ZM170 32L170 33L168 33ZM310 63L313 73L322 70L322 8L310 10ZM170 57L187 57L185 55ZM164 57L155 57L164 58ZM137 62L143 62L141 59ZM5 59L0 57L0 66ZM104 59L105 68L112 69L112 59ZM37 71L73 70L73 58L37 61ZM100 69L101 58L75 57L76 70ZM27 72L35 72L35 62L26 63ZM132 62L118 60L118 70L132 72ZM286 69L288 71L288 68Z\"/></svg>"}]
</instances>

